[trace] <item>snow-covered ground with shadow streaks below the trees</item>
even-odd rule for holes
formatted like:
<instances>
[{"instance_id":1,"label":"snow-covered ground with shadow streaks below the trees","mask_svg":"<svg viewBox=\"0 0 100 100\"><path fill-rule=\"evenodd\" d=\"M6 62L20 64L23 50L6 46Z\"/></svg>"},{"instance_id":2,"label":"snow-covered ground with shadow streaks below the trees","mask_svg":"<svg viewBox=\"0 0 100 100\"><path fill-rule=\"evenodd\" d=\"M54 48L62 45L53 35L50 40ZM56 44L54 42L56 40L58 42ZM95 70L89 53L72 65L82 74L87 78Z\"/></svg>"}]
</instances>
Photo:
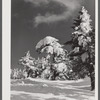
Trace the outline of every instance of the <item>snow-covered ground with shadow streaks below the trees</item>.
<instances>
[{"instance_id":1,"label":"snow-covered ground with shadow streaks below the trees","mask_svg":"<svg viewBox=\"0 0 100 100\"><path fill-rule=\"evenodd\" d=\"M95 100L89 78L78 81L11 80L11 100Z\"/></svg>"}]
</instances>

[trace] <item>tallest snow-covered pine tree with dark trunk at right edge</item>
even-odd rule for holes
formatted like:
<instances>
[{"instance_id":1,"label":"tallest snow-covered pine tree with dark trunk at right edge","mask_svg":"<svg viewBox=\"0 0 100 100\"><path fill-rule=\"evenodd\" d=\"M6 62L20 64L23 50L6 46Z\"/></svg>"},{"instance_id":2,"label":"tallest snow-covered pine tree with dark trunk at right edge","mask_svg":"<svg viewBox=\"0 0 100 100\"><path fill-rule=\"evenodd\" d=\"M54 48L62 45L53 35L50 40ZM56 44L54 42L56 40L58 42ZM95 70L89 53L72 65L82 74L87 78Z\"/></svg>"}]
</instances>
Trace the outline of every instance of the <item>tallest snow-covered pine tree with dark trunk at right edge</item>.
<instances>
[{"instance_id":1,"label":"tallest snow-covered pine tree with dark trunk at right edge","mask_svg":"<svg viewBox=\"0 0 100 100\"><path fill-rule=\"evenodd\" d=\"M81 58L80 62L84 66L82 67L83 75L86 72L84 69L88 69L88 74L91 79L91 90L95 88L95 31L91 26L91 19L88 11L82 7L80 15L74 20L74 32L72 33L71 41L65 44L72 44L72 51L69 56L77 59ZM79 64L80 65L80 64ZM76 67L77 68L77 67Z\"/></svg>"}]
</instances>

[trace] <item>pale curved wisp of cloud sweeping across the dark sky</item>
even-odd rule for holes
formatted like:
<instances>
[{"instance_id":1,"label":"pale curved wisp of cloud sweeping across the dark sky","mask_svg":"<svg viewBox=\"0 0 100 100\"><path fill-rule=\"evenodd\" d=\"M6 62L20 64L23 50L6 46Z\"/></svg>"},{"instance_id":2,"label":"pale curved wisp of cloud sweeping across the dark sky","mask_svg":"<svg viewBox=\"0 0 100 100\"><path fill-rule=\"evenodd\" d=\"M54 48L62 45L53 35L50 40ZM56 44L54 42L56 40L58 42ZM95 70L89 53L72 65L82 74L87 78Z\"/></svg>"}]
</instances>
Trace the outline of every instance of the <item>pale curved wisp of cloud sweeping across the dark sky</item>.
<instances>
[{"instance_id":1,"label":"pale curved wisp of cloud sweeping across the dark sky","mask_svg":"<svg viewBox=\"0 0 100 100\"><path fill-rule=\"evenodd\" d=\"M54 23L62 20L67 20L70 16L74 14L74 11L80 8L82 0L25 0L31 2L36 6L41 4L49 4L51 1L60 4L62 7L66 7L66 10L61 14L52 14L47 12L45 15L38 14L34 18L35 26L41 23ZM60 6L60 7L61 7Z\"/></svg>"}]
</instances>

